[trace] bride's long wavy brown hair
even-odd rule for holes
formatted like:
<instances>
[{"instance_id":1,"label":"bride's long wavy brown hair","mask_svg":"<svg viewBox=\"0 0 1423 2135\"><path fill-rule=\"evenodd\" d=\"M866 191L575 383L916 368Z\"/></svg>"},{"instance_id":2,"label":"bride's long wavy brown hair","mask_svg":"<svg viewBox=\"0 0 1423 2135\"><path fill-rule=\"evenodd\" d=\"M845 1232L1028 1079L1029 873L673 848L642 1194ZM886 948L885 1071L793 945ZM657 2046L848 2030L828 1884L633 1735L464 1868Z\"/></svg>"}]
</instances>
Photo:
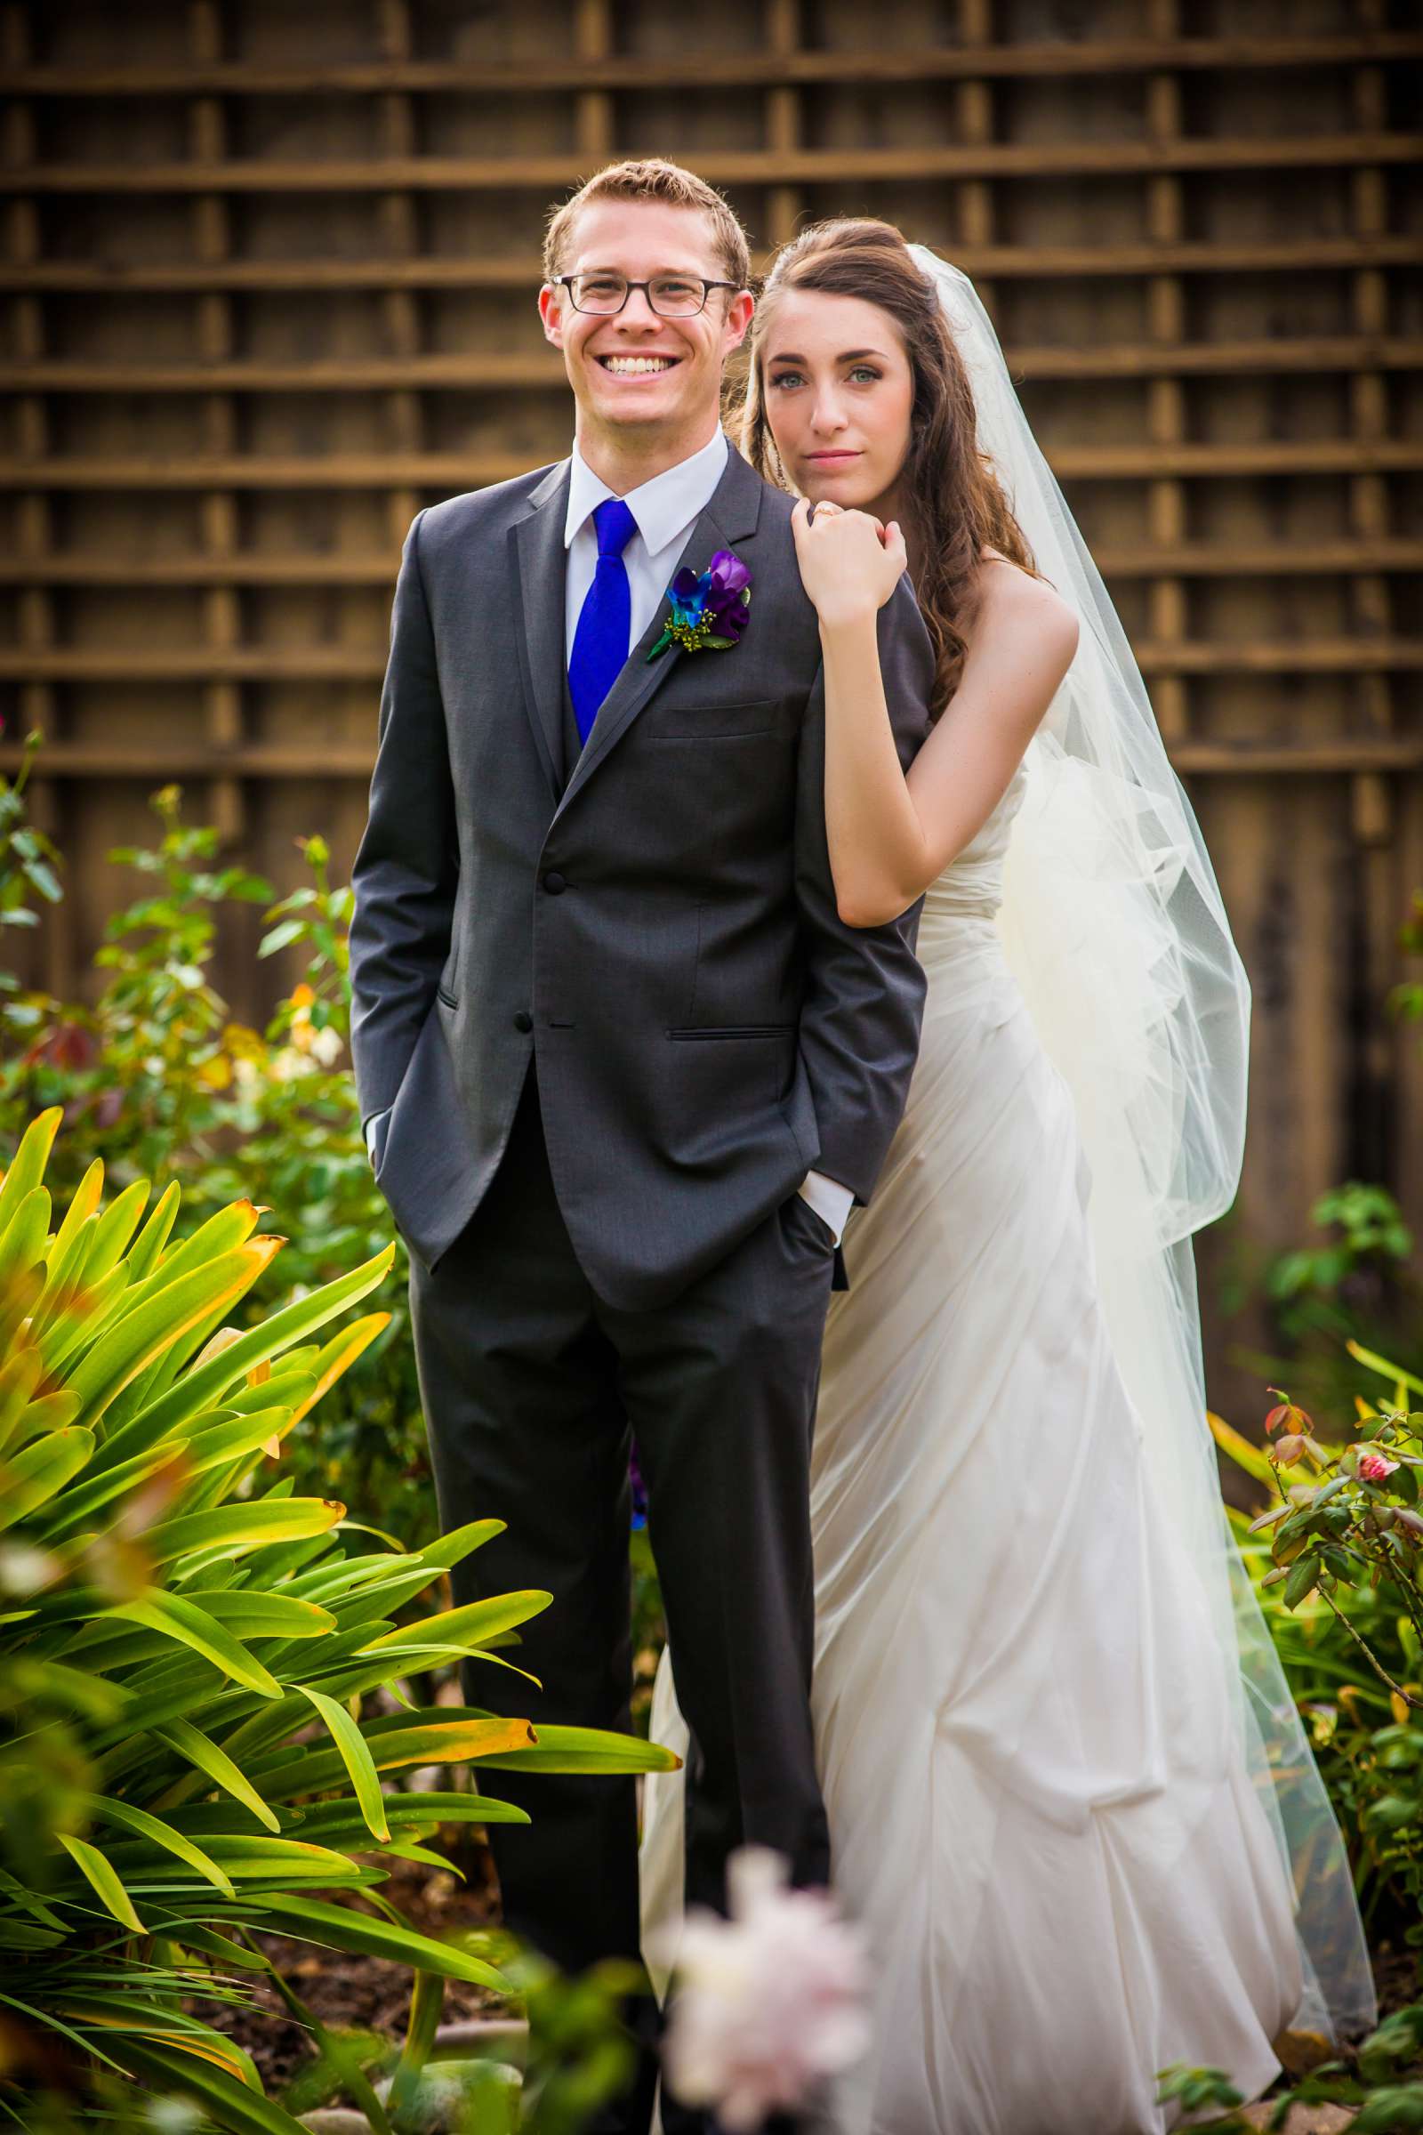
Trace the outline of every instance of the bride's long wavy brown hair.
<instances>
[{"instance_id":1,"label":"bride's long wavy brown hair","mask_svg":"<svg viewBox=\"0 0 1423 2135\"><path fill-rule=\"evenodd\" d=\"M847 218L802 231L766 278L751 327L751 367L742 408L742 450L781 489L792 489L766 421L766 329L787 288L826 290L877 303L894 320L913 374L909 459L902 495L917 562L913 589L934 647L934 717L954 696L964 666L977 570L984 549L998 549L1037 576L1033 555L977 450L973 389L943 316L939 292L920 273L892 222Z\"/></svg>"}]
</instances>

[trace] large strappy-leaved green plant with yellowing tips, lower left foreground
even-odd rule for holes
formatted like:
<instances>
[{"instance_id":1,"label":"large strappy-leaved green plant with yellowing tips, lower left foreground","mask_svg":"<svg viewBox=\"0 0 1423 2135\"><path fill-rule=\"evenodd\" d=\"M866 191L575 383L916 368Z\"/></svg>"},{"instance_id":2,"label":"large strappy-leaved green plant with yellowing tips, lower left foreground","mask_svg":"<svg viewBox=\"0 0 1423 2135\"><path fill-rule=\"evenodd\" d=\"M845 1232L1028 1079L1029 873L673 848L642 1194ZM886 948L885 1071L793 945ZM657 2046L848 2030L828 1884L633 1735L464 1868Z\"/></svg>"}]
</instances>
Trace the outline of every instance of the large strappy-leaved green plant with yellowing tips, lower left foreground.
<instances>
[{"instance_id":1,"label":"large strappy-leaved green plant with yellowing tips, lower left foreground","mask_svg":"<svg viewBox=\"0 0 1423 2135\"><path fill-rule=\"evenodd\" d=\"M92 1164L51 1232L58 1123L58 1108L30 1123L0 1185L0 2105L34 2126L38 2099L68 2092L90 2101L85 2124L119 2126L137 2084L243 2135L292 2135L247 2054L194 2013L269 1968L258 1930L414 1966L416 2041L444 1979L508 1988L407 1928L378 1862L444 1868L422 1847L437 1823L523 1810L386 1793L390 1774L670 1759L467 1706L420 1712L399 1689L397 1710L363 1708L407 1670L508 1667L491 1642L548 1601L403 1623L501 1522L348 1556L346 1507L273 1480L299 1420L384 1328L373 1313L314 1339L375 1290L393 1247L230 1326L284 1247L256 1206L177 1240L177 1183L151 1208L147 1181L102 1206Z\"/></svg>"}]
</instances>

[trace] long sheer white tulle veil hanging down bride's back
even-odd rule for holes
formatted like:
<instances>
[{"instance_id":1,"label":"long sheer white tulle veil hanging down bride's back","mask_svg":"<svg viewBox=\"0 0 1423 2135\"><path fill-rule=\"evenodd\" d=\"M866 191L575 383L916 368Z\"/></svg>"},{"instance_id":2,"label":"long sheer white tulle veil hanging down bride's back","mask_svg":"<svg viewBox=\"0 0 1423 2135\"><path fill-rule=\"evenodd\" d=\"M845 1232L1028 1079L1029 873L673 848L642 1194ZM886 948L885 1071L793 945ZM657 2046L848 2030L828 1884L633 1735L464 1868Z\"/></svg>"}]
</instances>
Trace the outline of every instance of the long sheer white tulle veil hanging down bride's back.
<instances>
[{"instance_id":1,"label":"long sheer white tulle veil hanging down bride's back","mask_svg":"<svg viewBox=\"0 0 1423 2135\"><path fill-rule=\"evenodd\" d=\"M1250 989L1190 803L1077 523L973 282L924 246L977 408L977 446L1037 570L1080 617L1073 664L1028 749L1001 935L1065 1076L1092 1172L1112 1349L1158 1501L1212 1599L1237 1685L1240 1753L1297 1894L1299 2028L1348 2037L1374 1986L1344 1843L1220 1503L1205 1422L1190 1236L1229 1208L1246 1125Z\"/></svg>"}]
</instances>

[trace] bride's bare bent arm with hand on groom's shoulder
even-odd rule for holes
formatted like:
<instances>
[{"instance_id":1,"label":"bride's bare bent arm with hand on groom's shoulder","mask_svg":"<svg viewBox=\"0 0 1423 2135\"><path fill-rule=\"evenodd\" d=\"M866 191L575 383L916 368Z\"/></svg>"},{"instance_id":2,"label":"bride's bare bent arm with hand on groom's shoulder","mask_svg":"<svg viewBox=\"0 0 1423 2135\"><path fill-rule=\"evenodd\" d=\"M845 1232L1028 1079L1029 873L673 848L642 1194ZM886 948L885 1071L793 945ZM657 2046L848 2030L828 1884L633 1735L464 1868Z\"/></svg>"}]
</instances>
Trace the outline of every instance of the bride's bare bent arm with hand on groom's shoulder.
<instances>
[{"instance_id":1,"label":"bride's bare bent arm with hand on groom's shoulder","mask_svg":"<svg viewBox=\"0 0 1423 2135\"><path fill-rule=\"evenodd\" d=\"M905 568L898 527L864 512L796 508L800 572L826 655L826 833L836 905L881 927L922 897L984 828L1077 649L1077 617L1007 559L981 568L952 702L900 771L879 675L875 615Z\"/></svg>"}]
</instances>

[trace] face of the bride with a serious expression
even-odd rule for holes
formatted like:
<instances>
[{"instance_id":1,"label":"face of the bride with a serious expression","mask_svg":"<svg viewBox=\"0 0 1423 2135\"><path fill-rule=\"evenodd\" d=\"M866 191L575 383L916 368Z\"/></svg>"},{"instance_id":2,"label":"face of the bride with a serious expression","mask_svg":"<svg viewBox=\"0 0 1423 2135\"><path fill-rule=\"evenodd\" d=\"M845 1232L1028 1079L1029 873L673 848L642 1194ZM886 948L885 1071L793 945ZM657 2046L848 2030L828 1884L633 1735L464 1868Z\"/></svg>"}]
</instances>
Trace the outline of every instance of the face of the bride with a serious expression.
<instances>
[{"instance_id":1,"label":"face of the bride with a serious expression","mask_svg":"<svg viewBox=\"0 0 1423 2135\"><path fill-rule=\"evenodd\" d=\"M913 371L888 312L787 288L762 339L762 382L781 465L802 495L860 510L892 500L909 457Z\"/></svg>"}]
</instances>

